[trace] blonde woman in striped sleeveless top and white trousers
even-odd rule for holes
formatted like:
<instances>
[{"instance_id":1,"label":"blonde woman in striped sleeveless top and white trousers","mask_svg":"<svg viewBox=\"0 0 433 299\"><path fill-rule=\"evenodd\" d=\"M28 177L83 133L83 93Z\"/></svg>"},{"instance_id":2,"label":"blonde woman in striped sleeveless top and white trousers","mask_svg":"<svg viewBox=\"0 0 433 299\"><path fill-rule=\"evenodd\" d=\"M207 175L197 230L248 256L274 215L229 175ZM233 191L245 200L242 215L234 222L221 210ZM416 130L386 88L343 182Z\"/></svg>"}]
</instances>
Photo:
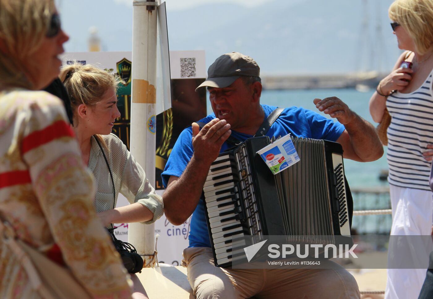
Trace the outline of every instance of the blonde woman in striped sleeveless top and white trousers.
<instances>
[{"instance_id":1,"label":"blonde woman in striped sleeveless top and white trousers","mask_svg":"<svg viewBox=\"0 0 433 299\"><path fill-rule=\"evenodd\" d=\"M392 205L391 235L430 235L433 157L433 0L396 0L389 17L398 47L393 71L379 82L370 113L381 122L385 108ZM412 69L402 62L411 62ZM425 269L388 269L386 298L417 298Z\"/></svg>"}]
</instances>

